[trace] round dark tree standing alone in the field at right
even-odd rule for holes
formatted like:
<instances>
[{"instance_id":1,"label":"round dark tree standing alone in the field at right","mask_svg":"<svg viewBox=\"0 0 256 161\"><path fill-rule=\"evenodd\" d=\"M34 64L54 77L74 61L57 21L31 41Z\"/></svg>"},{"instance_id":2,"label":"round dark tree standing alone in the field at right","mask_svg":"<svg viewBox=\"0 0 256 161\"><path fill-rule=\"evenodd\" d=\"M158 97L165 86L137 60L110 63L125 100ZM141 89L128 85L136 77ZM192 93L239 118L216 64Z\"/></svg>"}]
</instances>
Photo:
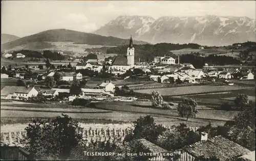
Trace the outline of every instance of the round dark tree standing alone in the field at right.
<instances>
[{"instance_id":1,"label":"round dark tree standing alone in the field at right","mask_svg":"<svg viewBox=\"0 0 256 161\"><path fill-rule=\"evenodd\" d=\"M179 102L177 107L179 116L188 118L196 117L197 110L197 102L190 98L184 98L181 102Z\"/></svg>"}]
</instances>

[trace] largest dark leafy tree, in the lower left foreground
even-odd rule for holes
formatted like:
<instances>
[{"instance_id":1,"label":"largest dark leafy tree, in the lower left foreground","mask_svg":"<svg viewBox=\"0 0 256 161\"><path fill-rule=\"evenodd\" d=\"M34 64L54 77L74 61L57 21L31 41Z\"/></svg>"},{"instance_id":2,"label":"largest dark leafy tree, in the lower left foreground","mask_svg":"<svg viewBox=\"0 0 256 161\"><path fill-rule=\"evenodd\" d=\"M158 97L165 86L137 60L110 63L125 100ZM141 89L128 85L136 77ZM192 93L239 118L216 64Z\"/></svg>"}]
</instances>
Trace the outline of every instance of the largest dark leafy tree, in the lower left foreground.
<instances>
[{"instance_id":1,"label":"largest dark leafy tree, in the lower left foreground","mask_svg":"<svg viewBox=\"0 0 256 161\"><path fill-rule=\"evenodd\" d=\"M66 160L73 148L83 144L82 128L66 114L48 121L33 120L25 130L24 148L39 160Z\"/></svg>"}]
</instances>

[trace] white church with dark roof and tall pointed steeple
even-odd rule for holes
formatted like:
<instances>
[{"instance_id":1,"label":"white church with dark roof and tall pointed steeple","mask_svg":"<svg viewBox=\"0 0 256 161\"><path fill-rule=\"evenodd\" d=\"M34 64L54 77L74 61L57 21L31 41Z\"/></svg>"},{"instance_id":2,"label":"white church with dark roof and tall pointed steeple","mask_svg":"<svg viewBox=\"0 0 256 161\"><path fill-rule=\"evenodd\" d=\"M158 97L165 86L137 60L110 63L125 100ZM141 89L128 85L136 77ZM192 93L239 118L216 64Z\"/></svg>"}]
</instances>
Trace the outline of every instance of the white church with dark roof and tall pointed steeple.
<instances>
[{"instance_id":1,"label":"white church with dark roof and tall pointed steeple","mask_svg":"<svg viewBox=\"0 0 256 161\"><path fill-rule=\"evenodd\" d=\"M127 71L130 68L135 67L134 65L134 47L133 47L133 39L131 36L129 47L127 48L127 54L116 56L112 62L112 66L110 69L118 70L118 71Z\"/></svg>"}]
</instances>

